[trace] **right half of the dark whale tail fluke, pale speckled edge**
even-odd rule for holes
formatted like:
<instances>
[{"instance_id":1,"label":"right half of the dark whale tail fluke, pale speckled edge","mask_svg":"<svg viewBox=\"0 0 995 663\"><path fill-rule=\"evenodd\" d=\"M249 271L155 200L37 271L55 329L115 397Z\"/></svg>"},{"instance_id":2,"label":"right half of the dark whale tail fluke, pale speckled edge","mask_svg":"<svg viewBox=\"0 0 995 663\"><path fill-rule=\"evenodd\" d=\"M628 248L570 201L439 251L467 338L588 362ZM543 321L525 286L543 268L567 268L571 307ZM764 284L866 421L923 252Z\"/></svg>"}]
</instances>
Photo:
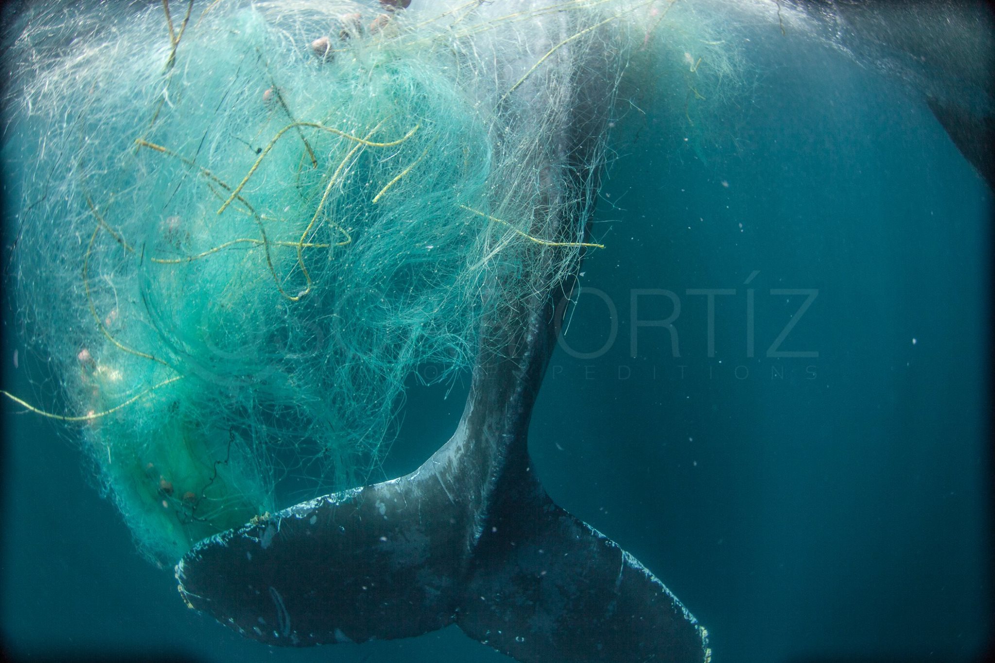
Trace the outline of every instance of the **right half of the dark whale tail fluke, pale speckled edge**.
<instances>
[{"instance_id":1,"label":"right half of the dark whale tail fluke, pale speckled edge","mask_svg":"<svg viewBox=\"0 0 995 663\"><path fill-rule=\"evenodd\" d=\"M523 663L706 663L707 631L632 555L535 484L488 520L456 622Z\"/></svg>"}]
</instances>

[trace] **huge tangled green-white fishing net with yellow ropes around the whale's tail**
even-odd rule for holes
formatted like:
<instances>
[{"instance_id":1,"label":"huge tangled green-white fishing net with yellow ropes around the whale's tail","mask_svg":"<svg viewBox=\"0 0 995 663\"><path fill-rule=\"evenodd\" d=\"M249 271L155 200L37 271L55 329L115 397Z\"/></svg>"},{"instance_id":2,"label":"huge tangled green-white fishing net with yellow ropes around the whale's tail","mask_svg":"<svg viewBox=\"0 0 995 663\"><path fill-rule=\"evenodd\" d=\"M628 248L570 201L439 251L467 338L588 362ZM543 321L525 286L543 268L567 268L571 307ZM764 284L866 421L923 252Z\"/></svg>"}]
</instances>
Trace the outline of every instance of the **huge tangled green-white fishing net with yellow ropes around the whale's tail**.
<instances>
[{"instance_id":1,"label":"huge tangled green-white fishing net with yellow ropes around the whale's tail","mask_svg":"<svg viewBox=\"0 0 995 663\"><path fill-rule=\"evenodd\" d=\"M301 480L366 480L417 367L471 366L482 319L591 246L591 197L550 194L604 154L563 165L569 90L614 94L669 3L505 6L66 3L20 26L21 318L150 558Z\"/></svg>"}]
</instances>

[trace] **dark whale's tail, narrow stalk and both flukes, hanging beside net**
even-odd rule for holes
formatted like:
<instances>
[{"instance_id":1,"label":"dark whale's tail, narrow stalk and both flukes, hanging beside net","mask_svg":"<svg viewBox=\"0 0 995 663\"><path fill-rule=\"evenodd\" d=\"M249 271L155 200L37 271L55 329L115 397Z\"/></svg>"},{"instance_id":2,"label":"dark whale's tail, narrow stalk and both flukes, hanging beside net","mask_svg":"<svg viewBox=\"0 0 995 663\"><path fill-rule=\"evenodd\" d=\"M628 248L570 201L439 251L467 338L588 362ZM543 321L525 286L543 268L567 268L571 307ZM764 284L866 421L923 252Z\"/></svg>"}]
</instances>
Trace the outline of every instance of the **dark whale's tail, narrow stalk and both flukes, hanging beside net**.
<instances>
[{"instance_id":1,"label":"dark whale's tail, narrow stalk and both flukes, hanging beside net","mask_svg":"<svg viewBox=\"0 0 995 663\"><path fill-rule=\"evenodd\" d=\"M522 4L482 4L481 18ZM576 34L559 13L540 20L553 23L552 43ZM547 66L573 72L559 90L525 79L530 57L496 73L498 87L520 82L515 93L530 103L568 95L569 111L549 127L555 156L536 164L550 204L534 211L535 226L560 242L581 242L598 191L616 84L599 74L606 57L569 45L551 53ZM498 124L532 120L502 100ZM560 200L574 201L573 218L546 218L546 207L563 209ZM580 255L572 262L526 267L555 269L557 281L516 314L484 321L462 419L421 467L202 541L176 567L187 604L277 645L410 637L455 623L525 662L708 661L707 632L681 601L554 504L533 471L528 424Z\"/></svg>"}]
</instances>

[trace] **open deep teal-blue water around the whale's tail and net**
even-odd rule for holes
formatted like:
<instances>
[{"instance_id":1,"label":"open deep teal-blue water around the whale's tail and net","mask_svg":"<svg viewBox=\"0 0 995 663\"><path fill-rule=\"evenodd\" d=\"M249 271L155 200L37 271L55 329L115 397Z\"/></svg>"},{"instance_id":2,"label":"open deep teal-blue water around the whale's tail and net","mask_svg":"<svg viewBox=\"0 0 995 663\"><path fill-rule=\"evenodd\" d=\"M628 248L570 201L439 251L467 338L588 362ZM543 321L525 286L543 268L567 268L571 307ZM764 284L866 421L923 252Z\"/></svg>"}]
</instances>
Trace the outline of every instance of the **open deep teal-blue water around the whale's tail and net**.
<instances>
[{"instance_id":1,"label":"open deep teal-blue water around the whale's tail and net","mask_svg":"<svg viewBox=\"0 0 995 663\"><path fill-rule=\"evenodd\" d=\"M991 192L899 84L776 26L756 42L749 103L713 127L733 140L686 140L644 108L615 145L594 227L606 249L582 267L530 452L559 505L681 597L716 661L977 660ZM21 350L14 368L5 316L4 383L28 394L25 367L45 358ZM449 438L467 383L411 381L373 479ZM244 640L138 555L64 431L3 413L15 657L510 660L455 626L309 650Z\"/></svg>"}]
</instances>

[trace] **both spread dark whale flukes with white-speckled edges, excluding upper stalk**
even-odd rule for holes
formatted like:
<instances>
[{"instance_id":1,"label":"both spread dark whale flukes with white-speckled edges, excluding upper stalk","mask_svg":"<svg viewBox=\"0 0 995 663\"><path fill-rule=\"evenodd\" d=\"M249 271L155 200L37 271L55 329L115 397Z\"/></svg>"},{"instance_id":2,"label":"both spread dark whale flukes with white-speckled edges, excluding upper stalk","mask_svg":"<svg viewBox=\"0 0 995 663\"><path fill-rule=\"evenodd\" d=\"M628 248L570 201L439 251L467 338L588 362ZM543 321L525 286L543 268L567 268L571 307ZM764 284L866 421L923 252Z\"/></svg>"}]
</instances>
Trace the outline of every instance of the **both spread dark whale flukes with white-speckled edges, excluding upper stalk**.
<instances>
[{"instance_id":1,"label":"both spread dark whale flukes with white-speckled edges, excluding upper stalk","mask_svg":"<svg viewBox=\"0 0 995 663\"><path fill-rule=\"evenodd\" d=\"M177 566L184 599L285 646L455 622L525 663L709 660L705 630L674 594L556 506L527 455L475 490L475 465L453 461L463 430L412 474L201 542Z\"/></svg>"}]
</instances>

